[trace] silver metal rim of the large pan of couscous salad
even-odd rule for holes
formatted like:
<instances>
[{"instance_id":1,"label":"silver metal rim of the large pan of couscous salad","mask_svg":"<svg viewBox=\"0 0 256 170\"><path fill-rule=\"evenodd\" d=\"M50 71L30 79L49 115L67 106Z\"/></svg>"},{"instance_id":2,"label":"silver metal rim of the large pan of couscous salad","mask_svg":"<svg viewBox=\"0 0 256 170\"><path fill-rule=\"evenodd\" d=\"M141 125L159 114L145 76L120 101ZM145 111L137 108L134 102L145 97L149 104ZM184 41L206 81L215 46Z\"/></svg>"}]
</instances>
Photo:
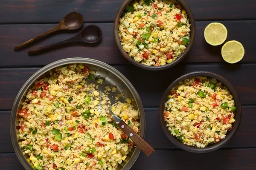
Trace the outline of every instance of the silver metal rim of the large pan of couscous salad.
<instances>
[{"instance_id":1,"label":"silver metal rim of the large pan of couscous salad","mask_svg":"<svg viewBox=\"0 0 256 170\"><path fill-rule=\"evenodd\" d=\"M145 138L145 112L143 108L143 104L141 102L140 96L135 90L134 86L129 82L129 80L121 74L118 70L111 67L110 65L98 61L96 59L89 59L89 58L67 58L67 59L61 59L55 62L52 62L43 68L36 71L29 79L24 83L22 88L20 88L20 91L18 92L14 104L12 106L11 116L10 116L10 135L12 140L12 145L14 147L15 153L20 160L23 167L25 167L26 170L34 170L32 166L29 164L29 162L26 160L25 156L23 156L22 151L19 147L18 141L17 141L17 134L16 134L16 116L17 116L17 109L20 103L20 100L22 99L24 93L26 90L32 85L32 83L35 82L35 80L40 77L42 74L47 73L49 70L56 68L61 65L67 65L67 64L75 64L75 63L83 63L83 64L92 64L96 65L98 67L104 68L108 71L110 71L112 74L115 74L119 79L124 82L124 84L129 88L131 91L131 94L134 96L134 99L138 106L138 111L140 113L140 136L144 139ZM136 147L134 152L131 155L131 158L128 160L128 162L125 164L124 167L122 167L122 170L129 170L131 166L135 163L138 156L140 154L140 148Z\"/></svg>"}]
</instances>

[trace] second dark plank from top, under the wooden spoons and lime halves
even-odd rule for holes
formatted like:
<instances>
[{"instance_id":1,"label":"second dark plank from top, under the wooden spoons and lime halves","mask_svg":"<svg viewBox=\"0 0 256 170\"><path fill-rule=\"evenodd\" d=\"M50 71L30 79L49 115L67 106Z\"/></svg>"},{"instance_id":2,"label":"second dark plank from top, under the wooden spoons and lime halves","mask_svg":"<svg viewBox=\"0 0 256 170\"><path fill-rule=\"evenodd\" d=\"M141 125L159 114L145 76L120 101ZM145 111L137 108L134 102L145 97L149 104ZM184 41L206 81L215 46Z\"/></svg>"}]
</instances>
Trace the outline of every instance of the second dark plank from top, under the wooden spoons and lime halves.
<instances>
[{"instance_id":1,"label":"second dark plank from top, under the wooden spoons and lime halves","mask_svg":"<svg viewBox=\"0 0 256 170\"><path fill-rule=\"evenodd\" d=\"M221 57L221 45L211 46L204 40L204 28L211 22L196 22L196 37L194 45L183 63L202 62L224 62ZM256 62L255 50L253 48L254 39L247 38L255 36L256 20L247 21L221 21L228 29L226 41L237 40L244 45L245 55L241 62ZM130 64L120 53L113 38L113 23L98 23L102 29L102 41L96 45L85 46L84 44L73 43L52 48L49 51L30 57L27 51L49 45L53 42L65 40L75 35L77 31L60 31L50 34L47 38L33 43L32 46L15 52L13 48L20 43L54 27L56 24L26 24L26 25L0 25L0 67L23 67L42 66L54 62L58 59L70 57L87 57L100 60L108 64ZM88 24L84 24L87 26ZM246 28L246 31L245 31ZM238 34L239 33L239 34ZM8 56L8 57L7 57ZM241 63L240 62L240 63Z\"/></svg>"}]
</instances>

